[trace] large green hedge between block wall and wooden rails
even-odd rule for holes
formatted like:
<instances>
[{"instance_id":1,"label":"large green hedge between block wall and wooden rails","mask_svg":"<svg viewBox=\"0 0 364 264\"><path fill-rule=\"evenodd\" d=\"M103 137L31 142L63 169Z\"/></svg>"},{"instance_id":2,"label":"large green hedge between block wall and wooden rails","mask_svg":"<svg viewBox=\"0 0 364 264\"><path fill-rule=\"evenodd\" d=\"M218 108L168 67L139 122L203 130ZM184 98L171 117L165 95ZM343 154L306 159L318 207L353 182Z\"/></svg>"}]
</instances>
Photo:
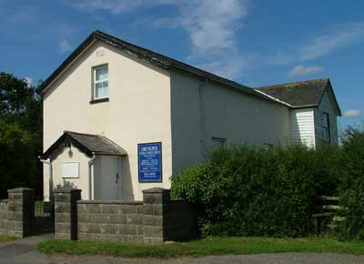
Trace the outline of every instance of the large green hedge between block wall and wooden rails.
<instances>
[{"instance_id":1,"label":"large green hedge between block wall and wooden rails","mask_svg":"<svg viewBox=\"0 0 364 264\"><path fill-rule=\"evenodd\" d=\"M202 235L301 237L315 197L337 194L337 147L233 146L172 177L172 195L197 207Z\"/></svg>"}]
</instances>

